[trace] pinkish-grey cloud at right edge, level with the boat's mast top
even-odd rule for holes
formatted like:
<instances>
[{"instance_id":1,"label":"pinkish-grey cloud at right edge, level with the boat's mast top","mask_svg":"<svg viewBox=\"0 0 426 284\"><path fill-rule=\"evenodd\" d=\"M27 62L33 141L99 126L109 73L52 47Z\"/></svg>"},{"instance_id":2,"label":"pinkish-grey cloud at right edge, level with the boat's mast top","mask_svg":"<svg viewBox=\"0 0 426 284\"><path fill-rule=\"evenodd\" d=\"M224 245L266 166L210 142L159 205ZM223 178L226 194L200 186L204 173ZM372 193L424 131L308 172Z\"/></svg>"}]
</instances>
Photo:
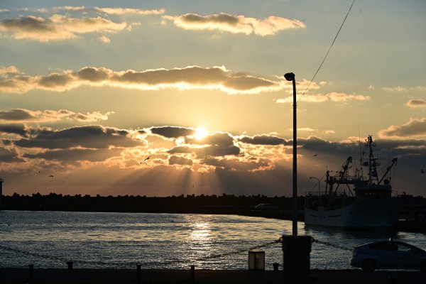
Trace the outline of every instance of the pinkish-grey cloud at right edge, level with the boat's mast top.
<instances>
[{"instance_id":1,"label":"pinkish-grey cloud at right edge, level with the boat's mast top","mask_svg":"<svg viewBox=\"0 0 426 284\"><path fill-rule=\"evenodd\" d=\"M387 129L378 131L378 136L387 138L408 138L413 136L426 136L426 117L410 119L402 126L391 125Z\"/></svg>"}]
</instances>

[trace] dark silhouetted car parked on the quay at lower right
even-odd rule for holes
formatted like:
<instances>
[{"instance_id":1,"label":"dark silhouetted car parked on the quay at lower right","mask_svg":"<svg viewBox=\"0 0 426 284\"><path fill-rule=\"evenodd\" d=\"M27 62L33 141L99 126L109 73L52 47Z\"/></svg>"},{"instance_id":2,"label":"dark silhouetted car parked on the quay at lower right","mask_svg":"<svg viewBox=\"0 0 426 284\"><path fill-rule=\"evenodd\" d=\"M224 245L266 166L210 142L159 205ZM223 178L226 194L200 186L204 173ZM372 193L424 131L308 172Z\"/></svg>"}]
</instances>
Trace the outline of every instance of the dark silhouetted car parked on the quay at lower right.
<instances>
[{"instance_id":1,"label":"dark silhouetted car parked on the quay at lower right","mask_svg":"<svg viewBox=\"0 0 426 284\"><path fill-rule=\"evenodd\" d=\"M426 251L403 241L373 241L354 246L351 266L363 271L413 269L426 272Z\"/></svg>"}]
</instances>

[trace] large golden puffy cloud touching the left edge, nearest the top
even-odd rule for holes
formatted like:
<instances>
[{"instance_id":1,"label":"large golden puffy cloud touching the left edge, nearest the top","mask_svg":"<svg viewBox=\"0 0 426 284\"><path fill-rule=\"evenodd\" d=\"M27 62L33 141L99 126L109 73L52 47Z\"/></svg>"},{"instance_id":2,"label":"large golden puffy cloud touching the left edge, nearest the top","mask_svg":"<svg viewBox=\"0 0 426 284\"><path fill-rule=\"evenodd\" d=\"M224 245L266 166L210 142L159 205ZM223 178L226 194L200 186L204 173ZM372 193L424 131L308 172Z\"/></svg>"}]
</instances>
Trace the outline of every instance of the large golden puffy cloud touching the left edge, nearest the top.
<instances>
[{"instance_id":1,"label":"large golden puffy cloud touching the left edge, nearest the top","mask_svg":"<svg viewBox=\"0 0 426 284\"><path fill-rule=\"evenodd\" d=\"M70 18L55 14L50 18L21 16L0 22L0 32L11 33L12 38L41 42L76 38L82 33L116 33L126 28L126 23L114 23L107 18Z\"/></svg>"}]
</instances>

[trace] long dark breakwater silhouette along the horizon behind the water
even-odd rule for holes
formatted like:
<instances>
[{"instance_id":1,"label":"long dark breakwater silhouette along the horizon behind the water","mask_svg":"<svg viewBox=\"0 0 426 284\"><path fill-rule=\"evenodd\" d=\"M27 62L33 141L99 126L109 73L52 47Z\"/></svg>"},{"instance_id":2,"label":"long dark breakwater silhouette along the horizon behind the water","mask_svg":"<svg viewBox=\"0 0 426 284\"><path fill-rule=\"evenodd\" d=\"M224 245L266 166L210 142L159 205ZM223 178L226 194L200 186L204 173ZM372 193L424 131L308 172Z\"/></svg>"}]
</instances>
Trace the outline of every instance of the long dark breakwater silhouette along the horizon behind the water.
<instances>
[{"instance_id":1,"label":"long dark breakwater silhouette along the horizon behind the water","mask_svg":"<svg viewBox=\"0 0 426 284\"><path fill-rule=\"evenodd\" d=\"M395 197L397 198L397 197ZM97 195L28 195L3 196L0 210L64 211L64 212L126 212L170 214L226 214L293 220L292 197L266 197L265 195L179 195L170 197L107 196ZM297 197L297 221L304 221L305 198ZM400 209L395 231L426 232L426 199L406 197ZM280 209L257 210L257 204L274 204ZM402 221L403 220L403 221Z\"/></svg>"}]
</instances>

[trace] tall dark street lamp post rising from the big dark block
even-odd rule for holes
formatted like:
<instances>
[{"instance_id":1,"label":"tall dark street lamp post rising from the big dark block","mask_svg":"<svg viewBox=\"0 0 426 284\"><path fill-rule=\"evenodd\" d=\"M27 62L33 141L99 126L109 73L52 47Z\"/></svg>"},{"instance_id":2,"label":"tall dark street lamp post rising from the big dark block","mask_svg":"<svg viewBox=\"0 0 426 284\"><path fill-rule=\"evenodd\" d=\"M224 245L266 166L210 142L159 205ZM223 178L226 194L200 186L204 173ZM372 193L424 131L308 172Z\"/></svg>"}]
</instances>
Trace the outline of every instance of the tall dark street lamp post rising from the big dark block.
<instances>
[{"instance_id":1,"label":"tall dark street lamp post rising from the big dark block","mask_svg":"<svg viewBox=\"0 0 426 284\"><path fill-rule=\"evenodd\" d=\"M297 123L296 123L296 80L293 72L284 75L285 80L293 81L293 235L297 236Z\"/></svg>"}]
</instances>

